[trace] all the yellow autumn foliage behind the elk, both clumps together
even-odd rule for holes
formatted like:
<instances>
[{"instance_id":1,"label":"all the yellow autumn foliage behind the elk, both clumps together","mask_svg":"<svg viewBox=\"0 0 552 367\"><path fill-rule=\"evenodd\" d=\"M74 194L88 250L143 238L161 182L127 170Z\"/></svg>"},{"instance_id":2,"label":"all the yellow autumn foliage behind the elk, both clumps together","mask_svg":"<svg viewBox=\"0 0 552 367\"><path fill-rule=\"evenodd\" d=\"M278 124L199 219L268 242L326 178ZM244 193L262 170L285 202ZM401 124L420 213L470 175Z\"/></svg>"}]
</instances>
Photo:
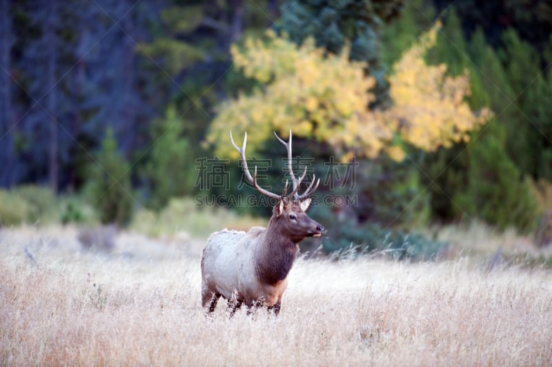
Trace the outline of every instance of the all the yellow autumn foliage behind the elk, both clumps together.
<instances>
[{"instance_id":1,"label":"all the yellow autumn foliage behind the elk, both clumps together","mask_svg":"<svg viewBox=\"0 0 552 367\"><path fill-rule=\"evenodd\" d=\"M313 39L297 46L272 30L264 39L234 45L235 66L264 88L222 103L206 142L215 145L219 157L237 157L229 130L247 131L253 152L273 130L286 136L291 128L297 137L325 141L342 160L386 152L400 161L404 149L394 144L401 139L426 151L466 141L491 112L475 115L464 101L470 93L467 73L448 77L444 64L426 64L424 54L435 44L436 32L424 34L393 66L393 106L387 110L368 110L375 79L366 75L366 63L348 60L348 47L326 54Z\"/></svg>"}]
</instances>

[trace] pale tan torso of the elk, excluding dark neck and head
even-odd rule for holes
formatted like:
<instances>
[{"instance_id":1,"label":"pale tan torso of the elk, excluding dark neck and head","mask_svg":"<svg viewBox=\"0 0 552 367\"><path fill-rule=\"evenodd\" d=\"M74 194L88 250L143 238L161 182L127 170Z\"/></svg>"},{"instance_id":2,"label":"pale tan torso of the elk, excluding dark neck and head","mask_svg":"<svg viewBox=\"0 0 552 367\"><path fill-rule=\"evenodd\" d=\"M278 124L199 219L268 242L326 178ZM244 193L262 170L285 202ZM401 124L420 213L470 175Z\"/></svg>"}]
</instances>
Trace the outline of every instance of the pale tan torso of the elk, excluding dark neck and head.
<instances>
[{"instance_id":1,"label":"pale tan torso of the elk, excluding dark neck and head","mask_svg":"<svg viewBox=\"0 0 552 367\"><path fill-rule=\"evenodd\" d=\"M221 230L210 235L201 259L202 303L207 306L221 295L246 306L279 305L288 286L287 279L275 284L259 281L256 266L262 254L266 228L248 232Z\"/></svg>"}]
</instances>

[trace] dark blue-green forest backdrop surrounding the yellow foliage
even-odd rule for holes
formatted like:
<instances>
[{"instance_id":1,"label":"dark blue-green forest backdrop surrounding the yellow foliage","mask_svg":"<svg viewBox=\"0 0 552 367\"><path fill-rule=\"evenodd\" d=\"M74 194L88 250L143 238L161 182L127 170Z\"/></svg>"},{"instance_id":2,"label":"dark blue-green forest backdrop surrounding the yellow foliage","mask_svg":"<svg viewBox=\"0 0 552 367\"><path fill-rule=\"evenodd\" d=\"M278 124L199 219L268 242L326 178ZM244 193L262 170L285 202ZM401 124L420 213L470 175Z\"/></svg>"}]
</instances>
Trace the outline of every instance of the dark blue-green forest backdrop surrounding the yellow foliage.
<instances>
[{"instance_id":1,"label":"dark blue-green forest backdrop surrounding the yellow foliage","mask_svg":"<svg viewBox=\"0 0 552 367\"><path fill-rule=\"evenodd\" d=\"M337 224L328 250L475 218L533 233L552 208L552 3L521 0L0 0L0 223L19 220L7 219L14 195L30 206L75 195L63 221L81 220L87 202L119 224L201 195L197 159L214 158L202 142L217 106L255 86L233 67L233 43L268 28L328 52L351 42L385 106L391 65L437 20L428 62L469 70L470 106L494 117L470 143L361 160L357 206L313 209ZM239 177L235 161L227 169Z\"/></svg>"}]
</instances>

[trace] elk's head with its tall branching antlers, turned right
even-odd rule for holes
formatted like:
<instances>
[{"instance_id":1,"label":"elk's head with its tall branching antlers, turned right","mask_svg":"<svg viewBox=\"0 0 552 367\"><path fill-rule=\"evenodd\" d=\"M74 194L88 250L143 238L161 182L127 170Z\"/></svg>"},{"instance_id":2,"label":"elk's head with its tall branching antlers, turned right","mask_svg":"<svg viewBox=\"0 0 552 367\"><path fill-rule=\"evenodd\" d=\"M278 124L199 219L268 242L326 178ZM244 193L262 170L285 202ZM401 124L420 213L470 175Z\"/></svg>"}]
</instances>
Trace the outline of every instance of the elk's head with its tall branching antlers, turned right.
<instances>
[{"instance_id":1,"label":"elk's head with its tall branching antlers, turned right","mask_svg":"<svg viewBox=\"0 0 552 367\"><path fill-rule=\"evenodd\" d=\"M279 232L279 234L292 240L295 244L299 243L299 241L305 237L320 237L322 236L322 233L324 233L324 227L306 215L306 210L308 209L308 206L311 205L311 198L308 196L312 195L318 188L320 179L316 181L315 185L315 177L313 176L311 184L308 185L306 190L301 195L299 195L299 186L301 186L301 182L306 176L306 168L299 179L297 179L293 173L291 165L291 130L289 131L289 141L287 142L280 139L276 132L274 132L274 135L280 143L286 146L286 150L288 151L288 170L292 182L292 191L289 195L287 195L288 181L286 181L286 186L284 186L284 193L282 195L277 195L260 187L257 183L257 166L255 166L255 170L253 170L253 177L251 177L245 156L247 132L241 148L234 142L232 132L230 132L230 140L232 141L234 148L236 148L239 152L239 157L242 161L242 168L244 169L247 181L250 184L253 184L253 187L255 187L255 189L263 195L272 197L278 201L273 208L273 216L270 218L268 227L274 228L277 232Z\"/></svg>"}]
</instances>

